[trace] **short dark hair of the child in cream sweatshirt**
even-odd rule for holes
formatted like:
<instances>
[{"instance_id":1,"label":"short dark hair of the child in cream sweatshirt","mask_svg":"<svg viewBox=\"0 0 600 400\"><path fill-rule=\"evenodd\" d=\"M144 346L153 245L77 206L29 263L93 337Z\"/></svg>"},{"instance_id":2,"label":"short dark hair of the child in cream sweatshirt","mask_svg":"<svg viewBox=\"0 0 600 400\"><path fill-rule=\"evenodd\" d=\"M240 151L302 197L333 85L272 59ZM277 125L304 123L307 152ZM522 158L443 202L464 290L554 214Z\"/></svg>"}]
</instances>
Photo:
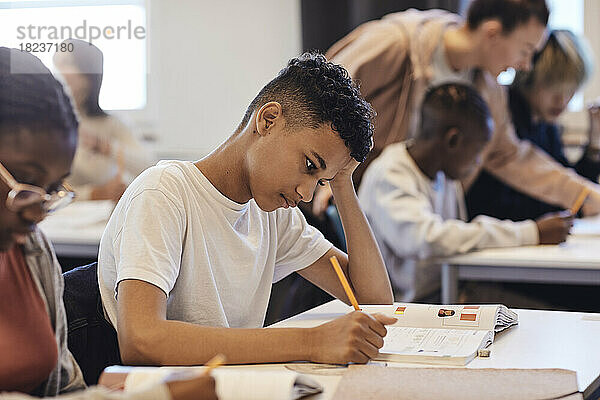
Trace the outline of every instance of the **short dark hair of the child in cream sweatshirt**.
<instances>
[{"instance_id":1,"label":"short dark hair of the child in cream sweatshirt","mask_svg":"<svg viewBox=\"0 0 600 400\"><path fill-rule=\"evenodd\" d=\"M464 135L488 141L493 122L477 89L462 83L446 83L427 91L421 105L418 139L433 139L457 128Z\"/></svg>"}]
</instances>

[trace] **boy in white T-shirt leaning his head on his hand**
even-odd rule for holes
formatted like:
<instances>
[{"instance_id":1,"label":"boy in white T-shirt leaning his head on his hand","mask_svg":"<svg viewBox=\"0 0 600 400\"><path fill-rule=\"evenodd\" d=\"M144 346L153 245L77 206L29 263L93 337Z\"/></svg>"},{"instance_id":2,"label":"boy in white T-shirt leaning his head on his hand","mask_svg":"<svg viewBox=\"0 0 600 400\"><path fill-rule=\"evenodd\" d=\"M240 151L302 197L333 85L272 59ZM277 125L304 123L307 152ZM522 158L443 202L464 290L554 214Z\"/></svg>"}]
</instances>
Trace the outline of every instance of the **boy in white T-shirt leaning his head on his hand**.
<instances>
[{"instance_id":1,"label":"boy in white T-shirt leaning his head on his hand","mask_svg":"<svg viewBox=\"0 0 600 400\"><path fill-rule=\"evenodd\" d=\"M308 329L260 329L271 284L297 271L348 302L337 256L361 303L391 303L381 254L352 172L371 147L373 110L341 66L292 59L205 158L142 173L102 237L99 284L126 364L364 363L393 318L354 312ZM348 255L296 208L330 182Z\"/></svg>"}]
</instances>

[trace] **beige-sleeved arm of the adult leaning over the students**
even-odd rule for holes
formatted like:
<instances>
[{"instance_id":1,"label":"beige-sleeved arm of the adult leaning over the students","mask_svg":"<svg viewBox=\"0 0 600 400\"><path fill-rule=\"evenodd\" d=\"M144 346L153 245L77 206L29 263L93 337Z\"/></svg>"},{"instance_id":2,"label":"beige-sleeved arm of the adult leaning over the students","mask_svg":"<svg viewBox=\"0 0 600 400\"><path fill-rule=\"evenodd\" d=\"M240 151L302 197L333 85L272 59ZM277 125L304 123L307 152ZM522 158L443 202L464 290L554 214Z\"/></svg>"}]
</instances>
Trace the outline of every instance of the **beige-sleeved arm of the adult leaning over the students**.
<instances>
[{"instance_id":1,"label":"beige-sleeved arm of the adult leaning over the students","mask_svg":"<svg viewBox=\"0 0 600 400\"><path fill-rule=\"evenodd\" d=\"M495 131L484 157L484 168L509 186L536 199L570 208L584 187L592 192L584 203L585 215L600 212L600 186L553 160L543 150L515 135L506 94L488 82L482 95L494 116ZM472 179L465 182L468 187Z\"/></svg>"}]
</instances>

